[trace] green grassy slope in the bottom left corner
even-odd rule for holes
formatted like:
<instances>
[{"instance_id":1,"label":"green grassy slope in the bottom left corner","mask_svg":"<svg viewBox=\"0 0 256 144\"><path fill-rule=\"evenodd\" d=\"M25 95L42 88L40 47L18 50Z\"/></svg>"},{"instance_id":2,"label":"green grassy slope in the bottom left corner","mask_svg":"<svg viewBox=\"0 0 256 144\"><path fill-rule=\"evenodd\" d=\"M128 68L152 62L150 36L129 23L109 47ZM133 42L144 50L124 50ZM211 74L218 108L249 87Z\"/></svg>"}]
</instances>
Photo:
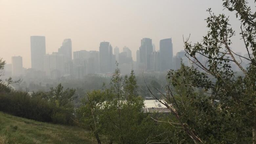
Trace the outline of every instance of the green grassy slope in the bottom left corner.
<instances>
[{"instance_id":1,"label":"green grassy slope in the bottom left corner","mask_svg":"<svg viewBox=\"0 0 256 144\"><path fill-rule=\"evenodd\" d=\"M91 144L83 129L49 124L0 112L0 144Z\"/></svg>"}]
</instances>

